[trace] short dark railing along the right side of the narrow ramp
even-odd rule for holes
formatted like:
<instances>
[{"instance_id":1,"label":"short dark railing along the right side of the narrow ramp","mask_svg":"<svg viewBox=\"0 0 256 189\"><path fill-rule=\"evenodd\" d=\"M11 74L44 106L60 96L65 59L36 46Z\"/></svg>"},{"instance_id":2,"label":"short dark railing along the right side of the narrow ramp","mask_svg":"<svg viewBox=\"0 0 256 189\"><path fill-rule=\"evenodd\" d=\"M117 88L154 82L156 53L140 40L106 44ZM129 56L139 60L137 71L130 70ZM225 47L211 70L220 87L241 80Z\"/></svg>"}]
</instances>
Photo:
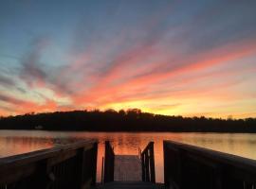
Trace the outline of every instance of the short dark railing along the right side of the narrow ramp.
<instances>
[{"instance_id":1,"label":"short dark railing along the right side of the narrow ramp","mask_svg":"<svg viewBox=\"0 0 256 189\"><path fill-rule=\"evenodd\" d=\"M150 181L155 183L154 156L154 142L150 142L140 154L143 181Z\"/></svg>"}]
</instances>

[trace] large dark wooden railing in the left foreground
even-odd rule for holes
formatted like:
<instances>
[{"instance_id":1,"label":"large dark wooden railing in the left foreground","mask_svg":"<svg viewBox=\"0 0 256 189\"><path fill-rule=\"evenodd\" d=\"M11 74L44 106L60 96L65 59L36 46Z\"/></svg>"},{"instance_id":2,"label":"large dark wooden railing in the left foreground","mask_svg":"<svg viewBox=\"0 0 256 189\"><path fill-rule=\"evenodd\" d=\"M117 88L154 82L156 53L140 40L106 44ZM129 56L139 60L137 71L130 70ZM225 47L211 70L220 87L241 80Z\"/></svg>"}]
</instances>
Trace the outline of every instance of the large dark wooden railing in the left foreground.
<instances>
[{"instance_id":1,"label":"large dark wooden railing in the left foreground","mask_svg":"<svg viewBox=\"0 0 256 189\"><path fill-rule=\"evenodd\" d=\"M0 159L0 189L85 189L96 184L98 143L84 141Z\"/></svg>"}]
</instances>

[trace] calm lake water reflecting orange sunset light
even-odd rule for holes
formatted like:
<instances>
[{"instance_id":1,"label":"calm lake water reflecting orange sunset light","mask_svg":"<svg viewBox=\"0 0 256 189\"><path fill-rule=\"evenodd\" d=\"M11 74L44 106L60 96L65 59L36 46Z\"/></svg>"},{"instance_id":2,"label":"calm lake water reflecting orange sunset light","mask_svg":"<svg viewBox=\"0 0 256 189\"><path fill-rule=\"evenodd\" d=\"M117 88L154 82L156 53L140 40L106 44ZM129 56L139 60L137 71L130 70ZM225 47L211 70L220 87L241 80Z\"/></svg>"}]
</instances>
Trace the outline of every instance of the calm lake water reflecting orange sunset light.
<instances>
[{"instance_id":1,"label":"calm lake water reflecting orange sunset light","mask_svg":"<svg viewBox=\"0 0 256 189\"><path fill-rule=\"evenodd\" d=\"M256 134L219 133L171 133L171 132L55 132L55 131L14 131L0 130L0 158L52 147L66 141L97 139L98 181L101 178L103 143L111 141L116 154L137 154L138 147L144 148L150 141L155 142L156 181L163 182L163 140L174 140L195 146L204 146L230 154L256 160Z\"/></svg>"}]
</instances>

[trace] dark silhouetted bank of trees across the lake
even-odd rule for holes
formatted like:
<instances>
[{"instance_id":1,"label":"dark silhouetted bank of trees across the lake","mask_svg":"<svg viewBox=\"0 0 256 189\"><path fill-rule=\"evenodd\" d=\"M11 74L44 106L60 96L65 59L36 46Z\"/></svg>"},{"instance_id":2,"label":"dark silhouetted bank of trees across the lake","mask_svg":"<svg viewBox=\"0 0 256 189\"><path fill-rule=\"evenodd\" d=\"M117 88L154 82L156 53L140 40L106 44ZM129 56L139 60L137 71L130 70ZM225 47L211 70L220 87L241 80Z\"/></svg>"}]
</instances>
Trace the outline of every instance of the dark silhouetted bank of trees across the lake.
<instances>
[{"instance_id":1,"label":"dark silhouetted bank of trees across the lake","mask_svg":"<svg viewBox=\"0 0 256 189\"><path fill-rule=\"evenodd\" d=\"M141 112L73 111L1 117L0 129L88 131L256 132L256 119L213 119Z\"/></svg>"}]
</instances>

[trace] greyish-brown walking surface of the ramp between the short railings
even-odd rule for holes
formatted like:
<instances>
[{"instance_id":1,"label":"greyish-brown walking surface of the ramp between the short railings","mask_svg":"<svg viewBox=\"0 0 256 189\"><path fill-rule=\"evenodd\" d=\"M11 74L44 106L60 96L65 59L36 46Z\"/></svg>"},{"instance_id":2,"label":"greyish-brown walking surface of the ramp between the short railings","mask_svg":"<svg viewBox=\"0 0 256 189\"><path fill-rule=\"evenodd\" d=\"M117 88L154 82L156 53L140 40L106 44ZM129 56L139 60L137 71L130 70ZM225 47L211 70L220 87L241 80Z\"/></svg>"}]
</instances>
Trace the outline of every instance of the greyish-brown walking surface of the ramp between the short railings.
<instances>
[{"instance_id":1,"label":"greyish-brown walking surface of the ramp between the short railings","mask_svg":"<svg viewBox=\"0 0 256 189\"><path fill-rule=\"evenodd\" d=\"M141 162L136 155L116 155L114 180L117 181L141 181Z\"/></svg>"}]
</instances>

